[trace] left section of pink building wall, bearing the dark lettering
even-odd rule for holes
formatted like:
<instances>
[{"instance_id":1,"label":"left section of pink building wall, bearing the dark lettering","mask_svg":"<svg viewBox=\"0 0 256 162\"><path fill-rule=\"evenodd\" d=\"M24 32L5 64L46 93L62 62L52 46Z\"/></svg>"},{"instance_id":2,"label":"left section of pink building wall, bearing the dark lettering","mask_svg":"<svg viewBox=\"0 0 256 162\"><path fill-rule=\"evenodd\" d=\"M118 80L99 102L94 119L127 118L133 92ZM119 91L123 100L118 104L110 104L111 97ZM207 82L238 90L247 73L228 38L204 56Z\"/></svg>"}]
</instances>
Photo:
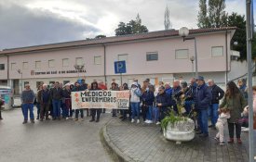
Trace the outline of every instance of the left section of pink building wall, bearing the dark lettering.
<instances>
[{"instance_id":1,"label":"left section of pink building wall, bearing the dark lettering","mask_svg":"<svg viewBox=\"0 0 256 162\"><path fill-rule=\"evenodd\" d=\"M94 56L101 56L101 65L94 65ZM87 72L67 73L67 71L75 70L75 58L82 57L85 63L85 69ZM68 58L68 67L62 67L62 59ZM48 60L54 59L54 68L48 67ZM35 61L41 61L41 68L35 68ZM104 75L104 59L103 59L103 47L84 47L75 49L63 49L58 51L48 51L40 53L31 53L24 55L10 56L10 64L16 63L15 69L10 69L10 79L21 79L21 74L18 73L17 69L22 72L22 79L30 78L58 78L58 77L78 77L80 76L102 76ZM28 62L29 66L27 69L23 68L23 62ZM34 75L32 75L34 70ZM65 71L62 73L61 71ZM49 74L35 75L36 72L49 72ZM57 72L55 74L55 72ZM59 73L61 72L61 73Z\"/></svg>"}]
</instances>

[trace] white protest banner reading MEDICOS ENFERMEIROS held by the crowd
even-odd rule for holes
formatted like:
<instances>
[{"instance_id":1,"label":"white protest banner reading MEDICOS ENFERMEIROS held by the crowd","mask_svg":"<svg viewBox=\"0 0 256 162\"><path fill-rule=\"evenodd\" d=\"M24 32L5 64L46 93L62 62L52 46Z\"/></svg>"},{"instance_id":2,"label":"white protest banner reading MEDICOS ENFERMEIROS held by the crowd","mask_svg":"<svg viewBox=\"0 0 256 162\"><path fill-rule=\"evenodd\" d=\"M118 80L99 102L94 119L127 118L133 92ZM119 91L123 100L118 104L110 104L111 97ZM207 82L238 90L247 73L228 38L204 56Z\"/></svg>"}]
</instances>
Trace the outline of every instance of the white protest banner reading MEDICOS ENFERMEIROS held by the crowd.
<instances>
[{"instance_id":1,"label":"white protest banner reading MEDICOS ENFERMEIROS held by the crowd","mask_svg":"<svg viewBox=\"0 0 256 162\"><path fill-rule=\"evenodd\" d=\"M72 108L128 109L129 91L72 92Z\"/></svg>"}]
</instances>

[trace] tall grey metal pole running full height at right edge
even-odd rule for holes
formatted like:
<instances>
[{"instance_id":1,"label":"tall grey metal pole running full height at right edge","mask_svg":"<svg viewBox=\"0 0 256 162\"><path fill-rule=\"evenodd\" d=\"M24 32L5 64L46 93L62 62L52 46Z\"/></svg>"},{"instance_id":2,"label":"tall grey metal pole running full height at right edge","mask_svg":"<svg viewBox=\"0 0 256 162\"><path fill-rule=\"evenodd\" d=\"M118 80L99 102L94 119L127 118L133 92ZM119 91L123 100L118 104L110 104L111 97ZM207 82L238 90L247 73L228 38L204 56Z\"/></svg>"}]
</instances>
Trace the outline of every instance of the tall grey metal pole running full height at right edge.
<instances>
[{"instance_id":1,"label":"tall grey metal pole running full height at right edge","mask_svg":"<svg viewBox=\"0 0 256 162\"><path fill-rule=\"evenodd\" d=\"M247 62L248 62L248 104L249 104L249 162L254 161L253 148L253 106L252 106L252 69L251 69L251 0L246 1L247 9Z\"/></svg>"}]
</instances>

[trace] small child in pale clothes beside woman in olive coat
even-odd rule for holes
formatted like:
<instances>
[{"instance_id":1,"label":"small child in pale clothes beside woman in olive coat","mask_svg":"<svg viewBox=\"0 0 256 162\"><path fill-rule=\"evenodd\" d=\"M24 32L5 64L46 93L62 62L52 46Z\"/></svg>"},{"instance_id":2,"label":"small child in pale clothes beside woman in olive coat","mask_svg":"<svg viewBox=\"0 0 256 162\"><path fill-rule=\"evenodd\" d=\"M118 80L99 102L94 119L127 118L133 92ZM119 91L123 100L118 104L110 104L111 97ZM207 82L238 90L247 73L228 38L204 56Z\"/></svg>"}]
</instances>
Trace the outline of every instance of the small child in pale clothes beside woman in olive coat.
<instances>
[{"instance_id":1,"label":"small child in pale clothes beside woman in olive coat","mask_svg":"<svg viewBox=\"0 0 256 162\"><path fill-rule=\"evenodd\" d=\"M218 130L218 133L216 134L216 137L214 138L220 145L225 144L224 142L224 126L227 123L227 118L230 118L230 111L227 108L220 109L220 115L216 123L216 129Z\"/></svg>"}]
</instances>

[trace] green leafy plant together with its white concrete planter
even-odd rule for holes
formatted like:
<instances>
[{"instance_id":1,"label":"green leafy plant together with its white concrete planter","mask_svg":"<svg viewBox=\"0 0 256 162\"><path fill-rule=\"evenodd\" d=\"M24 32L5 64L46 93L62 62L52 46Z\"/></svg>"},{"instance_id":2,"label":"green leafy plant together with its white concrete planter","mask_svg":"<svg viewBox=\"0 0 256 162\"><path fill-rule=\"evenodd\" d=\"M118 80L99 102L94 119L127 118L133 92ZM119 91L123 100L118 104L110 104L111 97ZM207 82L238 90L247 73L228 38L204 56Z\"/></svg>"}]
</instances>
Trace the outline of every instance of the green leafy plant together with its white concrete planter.
<instances>
[{"instance_id":1,"label":"green leafy plant together with its white concrete planter","mask_svg":"<svg viewBox=\"0 0 256 162\"><path fill-rule=\"evenodd\" d=\"M189 118L193 111L187 116L182 114L184 100L185 98L182 98L181 102L177 102L177 115L175 115L174 110L171 109L168 116L161 121L161 127L166 139L176 141L176 143L191 141L195 137L195 122Z\"/></svg>"}]
</instances>

